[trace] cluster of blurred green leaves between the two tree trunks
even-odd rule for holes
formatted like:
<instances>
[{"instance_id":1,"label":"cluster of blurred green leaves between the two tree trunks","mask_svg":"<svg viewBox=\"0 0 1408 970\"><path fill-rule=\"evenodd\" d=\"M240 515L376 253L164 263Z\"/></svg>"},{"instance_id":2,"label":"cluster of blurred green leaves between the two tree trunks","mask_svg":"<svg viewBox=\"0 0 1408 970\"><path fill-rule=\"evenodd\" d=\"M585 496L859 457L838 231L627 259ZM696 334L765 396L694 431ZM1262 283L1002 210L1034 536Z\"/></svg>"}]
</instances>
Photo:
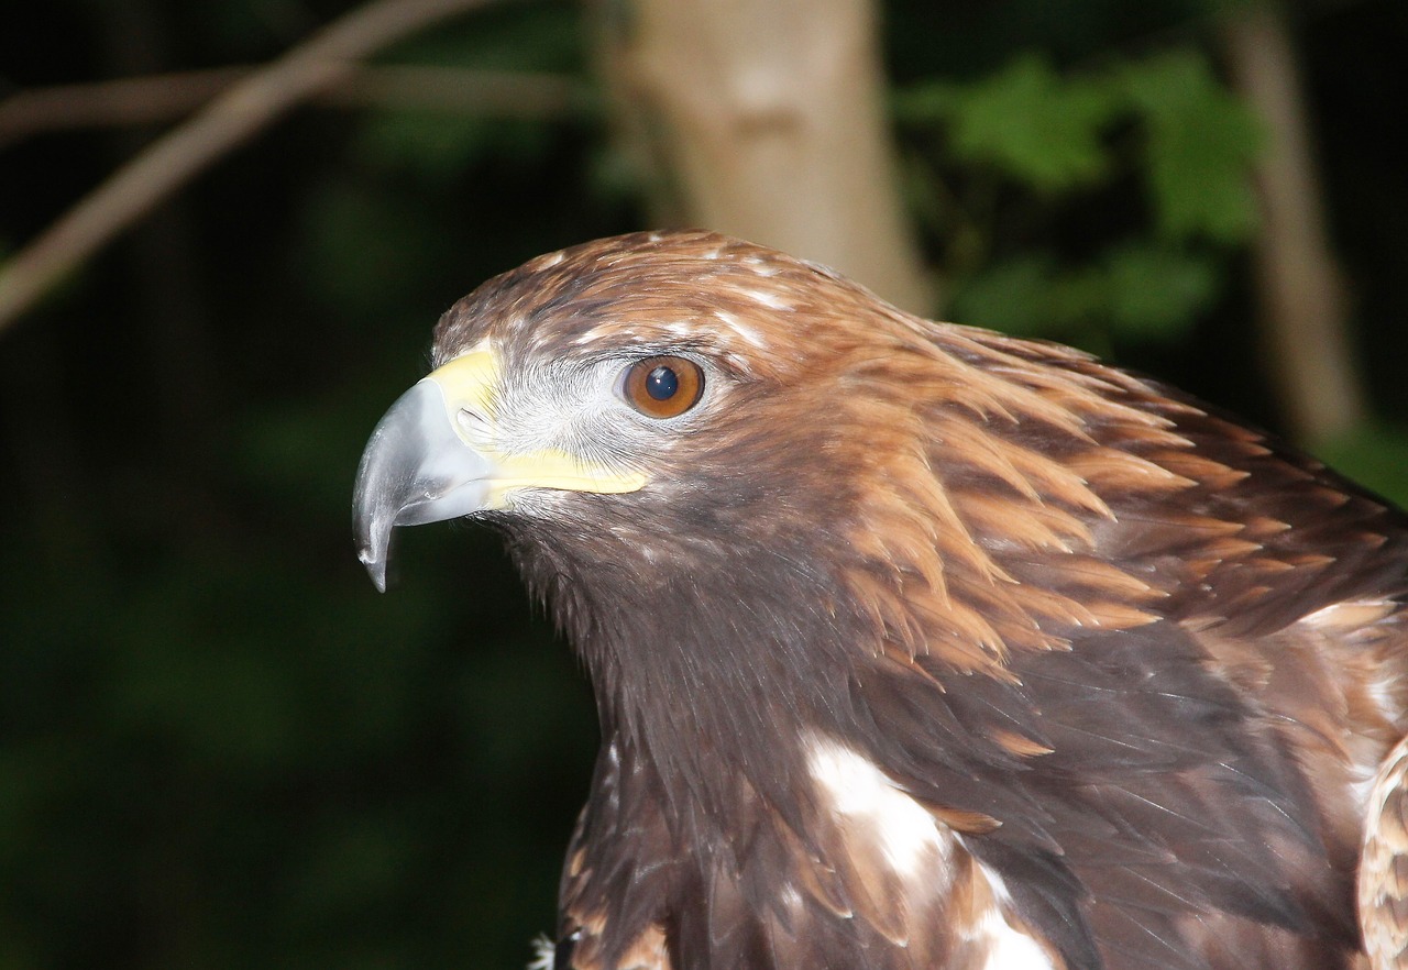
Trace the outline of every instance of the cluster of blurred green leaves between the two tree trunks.
<instances>
[{"instance_id":1,"label":"cluster of blurred green leaves between the two tree trunks","mask_svg":"<svg viewBox=\"0 0 1408 970\"><path fill-rule=\"evenodd\" d=\"M931 229L959 241L945 269L964 322L1095 346L1176 339L1255 228L1257 128L1193 46L1069 75L1024 53L972 82L911 84L895 111L917 135L915 180L943 186ZM1131 208L1132 182L1135 218L1071 220ZM1077 222L1090 231L1073 246L1060 231Z\"/></svg>"}]
</instances>

